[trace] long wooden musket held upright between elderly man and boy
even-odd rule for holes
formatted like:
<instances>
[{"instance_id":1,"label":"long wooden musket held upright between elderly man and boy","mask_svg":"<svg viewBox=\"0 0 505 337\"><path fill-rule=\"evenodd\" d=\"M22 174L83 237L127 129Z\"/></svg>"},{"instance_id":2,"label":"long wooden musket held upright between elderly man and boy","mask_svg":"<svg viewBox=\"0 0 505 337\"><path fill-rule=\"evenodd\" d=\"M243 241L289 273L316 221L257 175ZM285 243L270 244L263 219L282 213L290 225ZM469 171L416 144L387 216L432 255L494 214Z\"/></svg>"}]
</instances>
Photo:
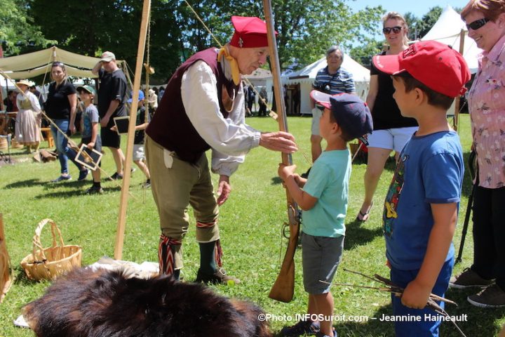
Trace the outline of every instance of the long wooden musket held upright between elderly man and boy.
<instances>
[{"instance_id":1,"label":"long wooden musket held upright between elderly man and boy","mask_svg":"<svg viewBox=\"0 0 505 337\"><path fill-rule=\"evenodd\" d=\"M274 31L274 22L272 20L271 2L263 0L264 16L267 22L267 34L270 51L271 72L274 77L274 93L277 106L278 124L281 131L288 132L288 123L286 121L285 105L282 98L281 68L278 64L277 41ZM282 154L282 162L285 165L292 164L291 154ZM290 192L286 189L288 199L288 220L290 237L288 249L285 252L284 260L281 265L276 282L269 293L269 298L280 300L281 302L290 302L295 292L295 251L298 244L299 234L299 211L295 200L292 199Z\"/></svg>"}]
</instances>

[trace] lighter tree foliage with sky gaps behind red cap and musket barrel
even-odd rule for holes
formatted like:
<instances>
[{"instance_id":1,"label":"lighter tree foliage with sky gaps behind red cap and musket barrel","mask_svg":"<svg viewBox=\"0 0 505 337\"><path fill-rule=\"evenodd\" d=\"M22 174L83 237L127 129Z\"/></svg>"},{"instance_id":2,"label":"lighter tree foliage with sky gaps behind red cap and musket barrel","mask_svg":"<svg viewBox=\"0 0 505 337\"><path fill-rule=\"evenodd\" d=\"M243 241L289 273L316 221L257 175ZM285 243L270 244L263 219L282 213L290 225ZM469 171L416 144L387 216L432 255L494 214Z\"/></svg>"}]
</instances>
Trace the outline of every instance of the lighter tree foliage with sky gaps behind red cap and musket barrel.
<instances>
[{"instance_id":1,"label":"lighter tree foliage with sky gaps behind red cap and musket barrel","mask_svg":"<svg viewBox=\"0 0 505 337\"><path fill-rule=\"evenodd\" d=\"M229 24L231 15L264 18L262 1L188 1L221 43L233 32ZM278 32L279 61L281 69L286 69L314 62L332 44L350 48L356 41L362 41L366 34L377 29L383 10L380 6L367 7L353 13L346 0L272 0L272 12ZM184 42L191 46L191 51L214 44L184 1L181 1L180 14L188 28Z\"/></svg>"}]
</instances>

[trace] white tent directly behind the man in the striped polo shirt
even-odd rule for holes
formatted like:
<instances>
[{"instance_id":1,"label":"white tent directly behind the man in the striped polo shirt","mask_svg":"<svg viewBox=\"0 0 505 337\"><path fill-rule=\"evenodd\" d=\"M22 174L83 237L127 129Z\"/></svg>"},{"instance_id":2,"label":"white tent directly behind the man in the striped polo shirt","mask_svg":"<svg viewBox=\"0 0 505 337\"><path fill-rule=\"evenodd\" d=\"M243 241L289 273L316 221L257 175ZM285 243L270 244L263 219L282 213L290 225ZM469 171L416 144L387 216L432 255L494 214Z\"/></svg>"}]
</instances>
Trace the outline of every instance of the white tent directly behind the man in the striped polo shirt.
<instances>
[{"instance_id":1,"label":"white tent directly behind the man in the striped polo shirt","mask_svg":"<svg viewBox=\"0 0 505 337\"><path fill-rule=\"evenodd\" d=\"M289 77L283 79L284 84L299 84L300 114L311 114L309 93L312 90L312 84L314 84L317 72L323 67L326 67L326 65L326 58L321 58L320 60L307 65L307 67L304 67L302 70L289 74ZM342 68L351 72L354 78L354 84L356 85L356 93L358 93L362 100L365 100L368 95L368 88L370 85L370 70L366 69L363 65L360 65L346 54L344 55Z\"/></svg>"}]
</instances>

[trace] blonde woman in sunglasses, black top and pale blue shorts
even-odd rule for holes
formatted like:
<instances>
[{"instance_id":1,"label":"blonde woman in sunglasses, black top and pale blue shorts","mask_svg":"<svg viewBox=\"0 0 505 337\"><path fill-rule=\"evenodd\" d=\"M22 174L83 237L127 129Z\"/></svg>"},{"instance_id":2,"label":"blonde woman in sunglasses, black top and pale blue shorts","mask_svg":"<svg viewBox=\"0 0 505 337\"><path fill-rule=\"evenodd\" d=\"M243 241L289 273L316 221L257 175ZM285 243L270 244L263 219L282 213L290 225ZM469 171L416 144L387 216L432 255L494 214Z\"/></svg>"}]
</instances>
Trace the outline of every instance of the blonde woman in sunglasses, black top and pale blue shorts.
<instances>
[{"instance_id":1,"label":"blonde woman in sunglasses, black top and pale blue shorts","mask_svg":"<svg viewBox=\"0 0 505 337\"><path fill-rule=\"evenodd\" d=\"M396 12L389 12L382 22L382 32L389 46L381 55L396 55L408 48L408 25L403 16ZM391 77L377 70L372 64L370 91L368 91L366 103L372 112L374 130L368 135L368 164L364 177L365 200L356 216L358 221L364 222L370 217L373 195L391 151L394 150L398 156L403 145L417 130L415 119L405 118L400 114L398 105L393 99L393 92Z\"/></svg>"}]
</instances>

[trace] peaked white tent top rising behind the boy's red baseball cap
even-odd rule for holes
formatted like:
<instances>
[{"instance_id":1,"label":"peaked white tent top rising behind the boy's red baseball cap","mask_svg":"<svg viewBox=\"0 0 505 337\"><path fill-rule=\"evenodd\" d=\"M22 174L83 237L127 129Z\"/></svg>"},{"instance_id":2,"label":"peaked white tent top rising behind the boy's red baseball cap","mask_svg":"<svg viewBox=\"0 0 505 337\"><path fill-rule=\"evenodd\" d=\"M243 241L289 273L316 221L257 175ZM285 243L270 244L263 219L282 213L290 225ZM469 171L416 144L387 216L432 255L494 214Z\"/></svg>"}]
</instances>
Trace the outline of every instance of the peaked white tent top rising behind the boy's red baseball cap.
<instances>
[{"instance_id":1,"label":"peaked white tent top rising behind the boy's red baseball cap","mask_svg":"<svg viewBox=\"0 0 505 337\"><path fill-rule=\"evenodd\" d=\"M478 55L482 52L481 49L477 48L477 44L473 39L468 36L468 29L466 29L465 22L462 20L461 16L452 9L450 5L445 7L440 18L426 35L422 38L423 41L435 40L443 44L452 46L456 51L460 49L460 34L462 29L464 30L463 39L463 57L466 60L466 64L469 66L472 74L477 72L478 67Z\"/></svg>"}]
</instances>

